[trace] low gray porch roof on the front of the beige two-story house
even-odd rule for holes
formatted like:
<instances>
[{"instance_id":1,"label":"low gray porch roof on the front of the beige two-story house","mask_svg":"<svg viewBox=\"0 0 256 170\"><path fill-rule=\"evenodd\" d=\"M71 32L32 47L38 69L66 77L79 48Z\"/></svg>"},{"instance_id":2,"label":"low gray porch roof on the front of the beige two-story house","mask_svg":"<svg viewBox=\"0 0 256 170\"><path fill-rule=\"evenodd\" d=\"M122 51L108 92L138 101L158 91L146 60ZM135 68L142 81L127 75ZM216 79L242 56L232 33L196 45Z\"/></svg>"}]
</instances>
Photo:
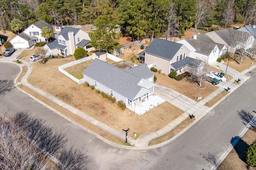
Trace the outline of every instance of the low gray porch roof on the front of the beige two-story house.
<instances>
[{"instance_id":1,"label":"low gray porch roof on the front of the beige two-story house","mask_svg":"<svg viewBox=\"0 0 256 170\"><path fill-rule=\"evenodd\" d=\"M181 69L182 67L188 65L190 67L198 67L198 65L201 63L202 61L200 60L197 60L195 58L191 58L191 57L186 57L184 58L183 60L180 60L178 62L175 62L173 64L171 64L171 66L175 69L175 70L178 70L178 69Z\"/></svg>"}]
</instances>

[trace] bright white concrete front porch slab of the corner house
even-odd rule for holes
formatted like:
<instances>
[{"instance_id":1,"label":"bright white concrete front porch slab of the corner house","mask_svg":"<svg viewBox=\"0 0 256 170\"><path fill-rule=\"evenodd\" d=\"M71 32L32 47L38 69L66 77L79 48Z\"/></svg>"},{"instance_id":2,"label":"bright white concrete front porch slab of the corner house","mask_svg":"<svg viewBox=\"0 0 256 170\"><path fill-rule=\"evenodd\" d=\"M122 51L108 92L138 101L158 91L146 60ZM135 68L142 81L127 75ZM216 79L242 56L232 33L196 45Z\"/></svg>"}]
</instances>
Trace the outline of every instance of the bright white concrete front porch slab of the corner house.
<instances>
[{"instance_id":1,"label":"bright white concrete front porch slab of the corner house","mask_svg":"<svg viewBox=\"0 0 256 170\"><path fill-rule=\"evenodd\" d=\"M155 106L164 103L164 101L161 97L153 94L145 98L140 97L133 100L127 108L141 116Z\"/></svg>"}]
</instances>

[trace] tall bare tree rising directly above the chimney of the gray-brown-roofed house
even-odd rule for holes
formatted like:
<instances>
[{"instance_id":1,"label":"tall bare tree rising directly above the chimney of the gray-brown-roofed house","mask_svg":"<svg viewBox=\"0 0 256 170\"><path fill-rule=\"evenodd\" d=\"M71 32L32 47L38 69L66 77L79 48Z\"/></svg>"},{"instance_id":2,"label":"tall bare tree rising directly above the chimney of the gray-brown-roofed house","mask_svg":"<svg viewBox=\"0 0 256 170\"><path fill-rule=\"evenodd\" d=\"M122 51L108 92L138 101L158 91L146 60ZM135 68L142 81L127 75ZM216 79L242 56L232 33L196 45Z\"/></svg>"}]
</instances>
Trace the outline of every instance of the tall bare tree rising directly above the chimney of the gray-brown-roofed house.
<instances>
[{"instance_id":1,"label":"tall bare tree rising directly above the chimney of the gray-brown-roofed house","mask_svg":"<svg viewBox=\"0 0 256 170\"><path fill-rule=\"evenodd\" d=\"M196 16L195 16L195 33L199 24L204 24L207 16L209 15L209 6L204 0L198 0L196 2Z\"/></svg>"}]
</instances>

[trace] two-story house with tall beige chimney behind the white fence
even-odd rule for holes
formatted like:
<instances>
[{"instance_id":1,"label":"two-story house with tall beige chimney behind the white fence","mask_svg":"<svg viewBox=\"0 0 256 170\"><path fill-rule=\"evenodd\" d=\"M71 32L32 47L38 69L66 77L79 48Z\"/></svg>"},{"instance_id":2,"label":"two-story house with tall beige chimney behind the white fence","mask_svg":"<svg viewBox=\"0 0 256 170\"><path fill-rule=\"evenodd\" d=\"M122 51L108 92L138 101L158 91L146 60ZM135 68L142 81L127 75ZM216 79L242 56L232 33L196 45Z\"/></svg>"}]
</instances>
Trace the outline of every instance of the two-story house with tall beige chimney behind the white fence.
<instances>
[{"instance_id":1,"label":"two-story house with tall beige chimney behind the white fence","mask_svg":"<svg viewBox=\"0 0 256 170\"><path fill-rule=\"evenodd\" d=\"M46 44L44 49L47 56L73 55L77 47L82 47L87 50L87 52L90 52L94 49L88 45L90 40L91 39L88 33L84 32L83 30L65 27L60 31L57 39L55 39L52 43Z\"/></svg>"}]
</instances>

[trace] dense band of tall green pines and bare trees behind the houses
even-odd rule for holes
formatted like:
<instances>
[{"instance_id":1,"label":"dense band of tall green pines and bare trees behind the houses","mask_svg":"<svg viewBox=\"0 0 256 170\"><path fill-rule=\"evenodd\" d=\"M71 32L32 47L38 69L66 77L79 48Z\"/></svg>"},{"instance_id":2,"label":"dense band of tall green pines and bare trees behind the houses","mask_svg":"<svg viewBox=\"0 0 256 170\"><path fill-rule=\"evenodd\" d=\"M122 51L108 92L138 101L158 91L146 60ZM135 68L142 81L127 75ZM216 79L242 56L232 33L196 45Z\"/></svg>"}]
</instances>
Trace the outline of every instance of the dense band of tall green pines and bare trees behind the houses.
<instances>
[{"instance_id":1,"label":"dense band of tall green pines and bare trees behind the houses","mask_svg":"<svg viewBox=\"0 0 256 170\"><path fill-rule=\"evenodd\" d=\"M0 0L0 29L20 31L37 20L93 24L101 15L134 39L181 36L190 27L256 22L255 0Z\"/></svg>"}]
</instances>

